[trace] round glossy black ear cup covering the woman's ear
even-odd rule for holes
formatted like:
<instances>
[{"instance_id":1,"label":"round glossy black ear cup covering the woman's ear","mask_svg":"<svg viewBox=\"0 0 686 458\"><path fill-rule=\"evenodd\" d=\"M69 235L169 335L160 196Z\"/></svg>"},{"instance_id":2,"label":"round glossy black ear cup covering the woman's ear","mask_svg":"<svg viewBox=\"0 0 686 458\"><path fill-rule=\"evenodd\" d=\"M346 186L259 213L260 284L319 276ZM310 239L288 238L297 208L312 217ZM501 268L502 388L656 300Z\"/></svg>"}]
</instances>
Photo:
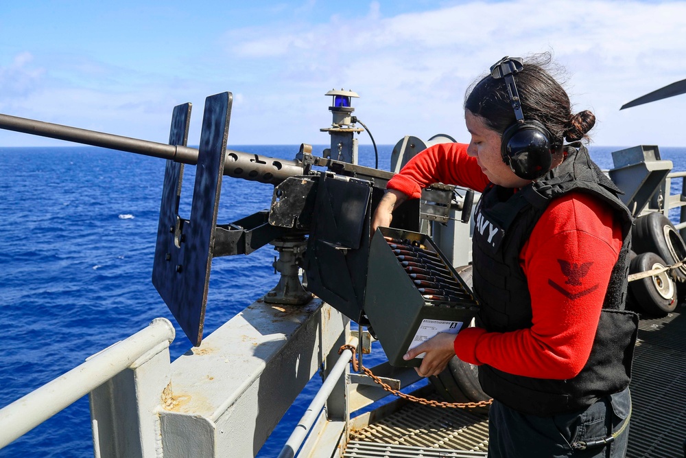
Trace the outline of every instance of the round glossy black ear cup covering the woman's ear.
<instances>
[{"instance_id":1,"label":"round glossy black ear cup covering the woman's ear","mask_svg":"<svg viewBox=\"0 0 686 458\"><path fill-rule=\"evenodd\" d=\"M512 172L525 180L545 175L552 165L550 133L538 121L516 122L503 133L500 153Z\"/></svg>"}]
</instances>

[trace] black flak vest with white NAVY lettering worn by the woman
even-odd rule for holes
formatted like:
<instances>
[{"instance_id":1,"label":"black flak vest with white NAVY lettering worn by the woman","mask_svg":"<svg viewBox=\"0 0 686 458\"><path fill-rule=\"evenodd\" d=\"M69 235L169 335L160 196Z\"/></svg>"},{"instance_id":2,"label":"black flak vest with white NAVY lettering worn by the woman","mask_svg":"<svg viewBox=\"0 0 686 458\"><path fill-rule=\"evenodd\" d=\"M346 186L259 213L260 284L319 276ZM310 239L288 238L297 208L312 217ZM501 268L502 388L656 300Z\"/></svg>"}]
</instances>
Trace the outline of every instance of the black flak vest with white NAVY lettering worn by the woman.
<instances>
[{"instance_id":1,"label":"black flak vest with white NAVY lettering worn by the woman","mask_svg":"<svg viewBox=\"0 0 686 458\"><path fill-rule=\"evenodd\" d=\"M588 192L608 204L622 223L622 249L610 277L591 354L581 372L569 380L552 380L515 376L489 365L479 367L479 380L489 396L534 415L584 409L602 396L625 389L637 336L638 317L624 310L632 218L617 198L621 191L591 161L586 148L574 147L578 149L567 147L563 163L518 192L489 185L475 213L473 289L482 304L478 323L489 332L532 325L531 296L519 253L554 198L571 191Z\"/></svg>"}]
</instances>

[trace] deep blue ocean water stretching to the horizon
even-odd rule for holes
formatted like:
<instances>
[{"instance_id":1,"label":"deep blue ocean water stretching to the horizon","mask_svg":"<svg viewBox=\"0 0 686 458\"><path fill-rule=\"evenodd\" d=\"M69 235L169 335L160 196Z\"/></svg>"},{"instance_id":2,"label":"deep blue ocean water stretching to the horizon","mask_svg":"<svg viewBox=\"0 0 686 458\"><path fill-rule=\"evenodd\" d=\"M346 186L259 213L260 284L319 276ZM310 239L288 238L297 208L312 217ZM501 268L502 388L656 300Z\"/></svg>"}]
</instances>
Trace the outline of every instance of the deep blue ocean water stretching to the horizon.
<instances>
[{"instance_id":1,"label":"deep blue ocean water stretching to the horizon","mask_svg":"<svg viewBox=\"0 0 686 458\"><path fill-rule=\"evenodd\" d=\"M230 148L283 159L293 159L298 151L298 146ZM379 146L384 170L392 148ZM601 168L611 168L610 152L617 149L591 147L591 156ZM684 169L686 148L661 148L661 153L675 169ZM372 146L360 146L359 157L362 165L375 163ZM185 171L180 208L185 217L193 169ZM0 407L156 317L174 323L151 282L164 171L161 159L103 148L0 148L0 214L5 218L0 231ZM677 185L681 188L680 180ZM224 177L218 222L268 208L272 190L271 185ZM275 253L268 245L247 256L213 260L205 336L276 285ZM171 359L190 347L176 325ZM286 413L259 457L278 455L314 397L317 379ZM0 450L0 457L92 456L87 396Z\"/></svg>"}]
</instances>

